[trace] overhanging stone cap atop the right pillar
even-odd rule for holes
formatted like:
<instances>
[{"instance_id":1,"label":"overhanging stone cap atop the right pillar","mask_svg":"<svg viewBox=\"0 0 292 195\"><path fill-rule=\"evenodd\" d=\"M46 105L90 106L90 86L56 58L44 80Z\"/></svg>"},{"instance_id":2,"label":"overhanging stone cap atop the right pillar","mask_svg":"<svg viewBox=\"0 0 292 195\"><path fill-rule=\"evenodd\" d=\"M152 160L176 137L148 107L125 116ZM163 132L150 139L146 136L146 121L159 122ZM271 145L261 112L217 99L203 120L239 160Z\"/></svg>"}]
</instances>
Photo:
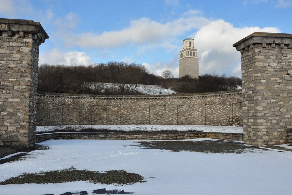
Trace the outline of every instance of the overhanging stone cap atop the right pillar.
<instances>
[{"instance_id":1,"label":"overhanging stone cap atop the right pillar","mask_svg":"<svg viewBox=\"0 0 292 195\"><path fill-rule=\"evenodd\" d=\"M292 44L292 34L270 33L270 32L254 32L247 37L237 41L232 46L237 51L250 46L251 44L275 43L275 44Z\"/></svg>"}]
</instances>

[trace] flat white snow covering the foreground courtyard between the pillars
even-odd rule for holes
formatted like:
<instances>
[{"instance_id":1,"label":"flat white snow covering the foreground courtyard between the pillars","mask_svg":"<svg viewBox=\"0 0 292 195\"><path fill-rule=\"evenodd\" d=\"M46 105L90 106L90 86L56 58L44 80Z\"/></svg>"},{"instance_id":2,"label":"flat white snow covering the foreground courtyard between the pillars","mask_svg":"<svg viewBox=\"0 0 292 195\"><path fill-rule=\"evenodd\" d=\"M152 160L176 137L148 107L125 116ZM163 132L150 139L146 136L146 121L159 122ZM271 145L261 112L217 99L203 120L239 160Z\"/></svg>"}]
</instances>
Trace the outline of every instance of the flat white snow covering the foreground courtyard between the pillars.
<instances>
[{"instance_id":1,"label":"flat white snow covering the foreground courtyard between the pillars","mask_svg":"<svg viewBox=\"0 0 292 195\"><path fill-rule=\"evenodd\" d=\"M211 139L195 139L206 142ZM187 140L184 140L187 141ZM190 140L188 140L190 141ZM125 170L146 182L117 186L86 181L0 185L0 194L61 194L106 188L138 195L290 194L292 153L250 149L242 154L170 152L142 149L134 140L48 140L51 149L29 152L21 161L0 165L0 181L22 173L62 170Z\"/></svg>"}]
</instances>

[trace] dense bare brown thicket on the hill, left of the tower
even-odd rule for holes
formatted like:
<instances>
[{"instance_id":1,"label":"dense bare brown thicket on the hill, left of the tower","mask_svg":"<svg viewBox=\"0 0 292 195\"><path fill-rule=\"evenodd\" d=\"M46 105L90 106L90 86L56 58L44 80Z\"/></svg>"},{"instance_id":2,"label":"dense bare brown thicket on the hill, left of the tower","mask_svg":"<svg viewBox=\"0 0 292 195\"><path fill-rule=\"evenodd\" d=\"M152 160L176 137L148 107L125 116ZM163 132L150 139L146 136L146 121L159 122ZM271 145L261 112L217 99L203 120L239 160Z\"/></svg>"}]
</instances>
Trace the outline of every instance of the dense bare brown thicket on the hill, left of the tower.
<instances>
[{"instance_id":1,"label":"dense bare brown thicket on the hill, left of the tower","mask_svg":"<svg viewBox=\"0 0 292 195\"><path fill-rule=\"evenodd\" d=\"M42 64L38 73L38 91L55 93L135 94L133 88L138 84L156 85L162 81L145 66L125 62L89 66ZM102 83L117 83L119 89L106 89Z\"/></svg>"}]
</instances>

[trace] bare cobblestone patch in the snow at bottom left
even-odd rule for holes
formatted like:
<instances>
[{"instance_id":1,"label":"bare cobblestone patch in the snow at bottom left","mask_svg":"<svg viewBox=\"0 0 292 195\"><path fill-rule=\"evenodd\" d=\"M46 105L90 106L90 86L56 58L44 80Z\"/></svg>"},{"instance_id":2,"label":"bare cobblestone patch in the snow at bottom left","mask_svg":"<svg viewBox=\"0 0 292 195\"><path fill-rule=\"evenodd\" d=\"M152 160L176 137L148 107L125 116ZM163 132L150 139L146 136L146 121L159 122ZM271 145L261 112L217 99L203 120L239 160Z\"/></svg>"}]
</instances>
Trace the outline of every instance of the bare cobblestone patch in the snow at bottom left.
<instances>
[{"instance_id":1,"label":"bare cobblestone patch in the snow at bottom left","mask_svg":"<svg viewBox=\"0 0 292 195\"><path fill-rule=\"evenodd\" d=\"M136 173L128 173L125 170L109 170L105 173L89 170L76 170L75 168L56 170L49 172L22 174L0 182L0 185L7 184L43 184L43 183L64 183L73 181L90 181L101 184L126 185L137 182L145 182L144 177Z\"/></svg>"}]
</instances>

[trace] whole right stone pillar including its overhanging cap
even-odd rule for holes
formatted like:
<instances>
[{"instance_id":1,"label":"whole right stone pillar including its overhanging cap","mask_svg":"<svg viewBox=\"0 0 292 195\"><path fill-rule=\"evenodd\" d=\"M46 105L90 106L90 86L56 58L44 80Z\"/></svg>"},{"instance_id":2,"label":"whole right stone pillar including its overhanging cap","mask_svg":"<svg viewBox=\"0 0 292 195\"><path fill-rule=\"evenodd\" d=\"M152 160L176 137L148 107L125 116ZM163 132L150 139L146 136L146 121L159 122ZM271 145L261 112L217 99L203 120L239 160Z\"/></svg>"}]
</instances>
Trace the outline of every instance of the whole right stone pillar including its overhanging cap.
<instances>
[{"instance_id":1,"label":"whole right stone pillar including its overhanging cap","mask_svg":"<svg viewBox=\"0 0 292 195\"><path fill-rule=\"evenodd\" d=\"M292 128L292 34L255 32L233 46L241 53L244 142L286 143Z\"/></svg>"}]
</instances>

